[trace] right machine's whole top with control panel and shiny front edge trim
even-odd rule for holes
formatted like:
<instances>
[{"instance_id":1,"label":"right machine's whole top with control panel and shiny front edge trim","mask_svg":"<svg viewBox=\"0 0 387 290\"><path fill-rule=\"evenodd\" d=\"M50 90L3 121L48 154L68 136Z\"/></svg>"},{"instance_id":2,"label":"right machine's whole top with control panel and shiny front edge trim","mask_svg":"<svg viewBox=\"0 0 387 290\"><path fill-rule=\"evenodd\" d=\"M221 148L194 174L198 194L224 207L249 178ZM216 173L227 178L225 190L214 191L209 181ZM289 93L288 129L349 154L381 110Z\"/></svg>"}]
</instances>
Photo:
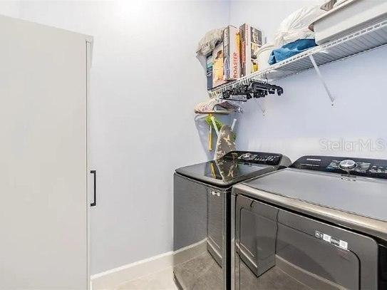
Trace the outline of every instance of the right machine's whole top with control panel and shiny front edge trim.
<instances>
[{"instance_id":1,"label":"right machine's whole top with control panel and shiny front edge trim","mask_svg":"<svg viewBox=\"0 0 387 290\"><path fill-rule=\"evenodd\" d=\"M232 192L387 242L387 160L304 156Z\"/></svg>"}]
</instances>

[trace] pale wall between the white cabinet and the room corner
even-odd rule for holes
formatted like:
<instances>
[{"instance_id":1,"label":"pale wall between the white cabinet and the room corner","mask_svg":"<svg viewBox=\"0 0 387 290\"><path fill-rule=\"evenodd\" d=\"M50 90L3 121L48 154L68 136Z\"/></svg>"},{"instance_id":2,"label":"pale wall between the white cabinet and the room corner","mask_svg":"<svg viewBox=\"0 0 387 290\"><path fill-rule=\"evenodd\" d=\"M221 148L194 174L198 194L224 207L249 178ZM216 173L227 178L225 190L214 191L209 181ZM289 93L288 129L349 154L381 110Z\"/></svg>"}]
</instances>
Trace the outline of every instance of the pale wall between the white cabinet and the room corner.
<instances>
[{"instance_id":1,"label":"pale wall between the white cabinet and the room corner","mask_svg":"<svg viewBox=\"0 0 387 290\"><path fill-rule=\"evenodd\" d=\"M197 41L227 24L202 1L23 1L21 18L95 38L91 273L172 249L172 172L206 160L193 108L207 98Z\"/></svg>"}]
</instances>

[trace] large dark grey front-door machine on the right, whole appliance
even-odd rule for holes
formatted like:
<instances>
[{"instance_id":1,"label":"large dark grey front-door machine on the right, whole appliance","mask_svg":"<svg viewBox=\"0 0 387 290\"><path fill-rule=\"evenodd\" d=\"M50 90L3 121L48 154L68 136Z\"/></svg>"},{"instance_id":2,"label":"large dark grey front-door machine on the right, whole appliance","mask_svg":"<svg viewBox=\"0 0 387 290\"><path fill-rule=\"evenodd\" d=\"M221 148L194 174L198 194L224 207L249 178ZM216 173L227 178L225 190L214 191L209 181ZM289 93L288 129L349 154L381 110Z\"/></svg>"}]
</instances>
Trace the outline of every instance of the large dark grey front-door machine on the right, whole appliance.
<instances>
[{"instance_id":1,"label":"large dark grey front-door machine on the right, whole appliance","mask_svg":"<svg viewBox=\"0 0 387 290\"><path fill-rule=\"evenodd\" d=\"M232 210L235 289L387 289L387 160L304 156Z\"/></svg>"}]
</instances>

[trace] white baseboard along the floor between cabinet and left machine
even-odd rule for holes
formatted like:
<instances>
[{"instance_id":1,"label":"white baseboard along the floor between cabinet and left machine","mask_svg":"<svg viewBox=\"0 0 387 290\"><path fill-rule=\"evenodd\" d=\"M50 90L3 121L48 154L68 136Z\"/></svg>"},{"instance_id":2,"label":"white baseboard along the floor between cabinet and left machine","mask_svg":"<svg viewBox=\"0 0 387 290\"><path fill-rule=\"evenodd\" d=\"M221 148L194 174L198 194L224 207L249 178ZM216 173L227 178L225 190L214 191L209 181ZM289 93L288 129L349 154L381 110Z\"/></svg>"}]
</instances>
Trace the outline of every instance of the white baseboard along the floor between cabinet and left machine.
<instances>
[{"instance_id":1,"label":"white baseboard along the floor between cabinet and left machine","mask_svg":"<svg viewBox=\"0 0 387 290\"><path fill-rule=\"evenodd\" d=\"M91 276L91 289L113 289L115 286L172 266L173 252L167 252L132 264Z\"/></svg>"}]
</instances>

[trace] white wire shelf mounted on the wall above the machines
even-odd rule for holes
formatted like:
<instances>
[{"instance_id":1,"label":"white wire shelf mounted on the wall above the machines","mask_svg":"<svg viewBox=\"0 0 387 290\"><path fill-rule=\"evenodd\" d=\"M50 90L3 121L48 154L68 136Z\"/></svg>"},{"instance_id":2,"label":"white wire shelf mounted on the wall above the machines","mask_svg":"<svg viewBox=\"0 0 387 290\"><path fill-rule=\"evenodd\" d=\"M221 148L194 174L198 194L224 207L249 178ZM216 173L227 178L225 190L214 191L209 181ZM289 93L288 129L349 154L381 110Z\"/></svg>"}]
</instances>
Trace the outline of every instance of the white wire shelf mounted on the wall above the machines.
<instances>
[{"instance_id":1,"label":"white wire shelf mounted on the wall above the machines","mask_svg":"<svg viewBox=\"0 0 387 290\"><path fill-rule=\"evenodd\" d=\"M250 81L276 81L280 78L286 78L287 76L301 73L314 67L310 59L311 57L314 58L317 66L324 66L327 63L333 63L334 61L340 61L344 58L356 56L358 53L370 51L371 49L386 44L387 20L383 20L335 41L330 41L329 43L316 46L308 51L299 53L296 56L287 58L263 71L257 71L249 76L239 78L237 81L232 81L214 88L213 90L210 90L209 93L212 98L215 98L225 90L242 84L248 85Z\"/></svg>"}]
</instances>

